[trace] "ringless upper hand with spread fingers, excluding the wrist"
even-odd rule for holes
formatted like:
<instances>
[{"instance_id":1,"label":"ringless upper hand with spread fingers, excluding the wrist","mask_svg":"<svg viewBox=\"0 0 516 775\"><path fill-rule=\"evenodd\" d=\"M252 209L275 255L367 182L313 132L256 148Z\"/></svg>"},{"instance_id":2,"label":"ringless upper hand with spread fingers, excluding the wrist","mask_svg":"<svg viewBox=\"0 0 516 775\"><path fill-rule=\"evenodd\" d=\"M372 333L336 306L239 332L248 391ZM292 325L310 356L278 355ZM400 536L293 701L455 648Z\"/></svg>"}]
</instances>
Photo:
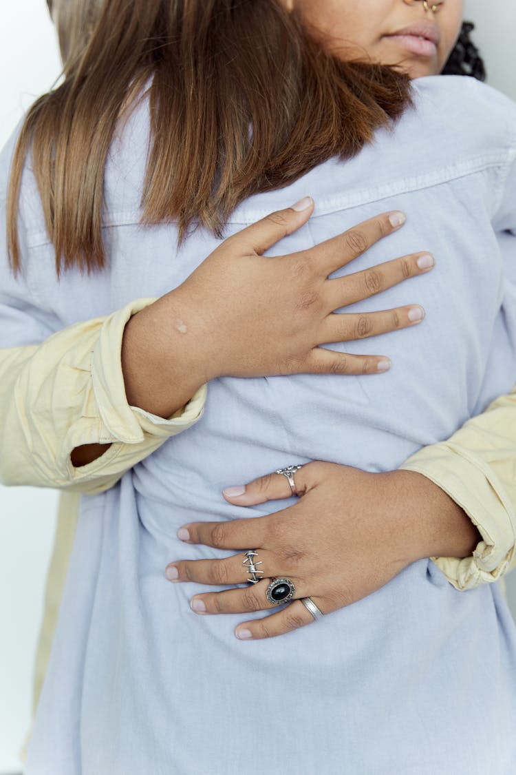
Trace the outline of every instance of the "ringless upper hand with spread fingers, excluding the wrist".
<instances>
[{"instance_id":1,"label":"ringless upper hand with spread fingers, excluding the wrist","mask_svg":"<svg viewBox=\"0 0 516 775\"><path fill-rule=\"evenodd\" d=\"M419 322L417 305L385 312L340 313L408 277L423 274L426 253L379 264L345 277L346 266L403 222L385 213L299 253L263 253L299 229L313 212L288 208L229 237L170 294L176 325L191 333L203 381L214 377L275 374L374 374L389 367L384 356L336 353L320 345L403 329ZM306 201L305 201L306 204ZM425 263L425 262L423 262ZM432 265L432 259L427 258Z\"/></svg>"}]
</instances>

